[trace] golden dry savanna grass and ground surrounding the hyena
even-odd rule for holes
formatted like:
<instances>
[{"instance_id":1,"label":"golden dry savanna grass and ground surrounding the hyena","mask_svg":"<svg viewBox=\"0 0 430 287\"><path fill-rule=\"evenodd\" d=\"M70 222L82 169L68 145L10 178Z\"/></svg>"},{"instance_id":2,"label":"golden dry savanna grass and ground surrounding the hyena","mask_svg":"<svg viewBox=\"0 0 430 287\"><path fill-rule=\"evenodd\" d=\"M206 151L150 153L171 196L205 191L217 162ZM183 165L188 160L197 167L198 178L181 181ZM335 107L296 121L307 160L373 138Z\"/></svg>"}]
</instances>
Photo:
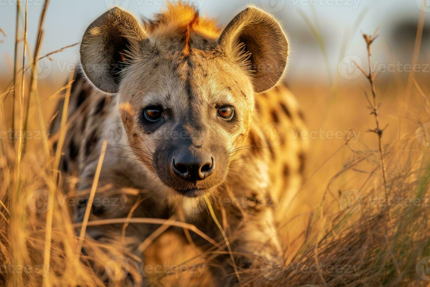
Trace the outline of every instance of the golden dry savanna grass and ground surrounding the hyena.
<instances>
[{"instance_id":1,"label":"golden dry savanna grass and ground surrounding the hyena","mask_svg":"<svg viewBox=\"0 0 430 287\"><path fill-rule=\"evenodd\" d=\"M22 15L24 12L21 7ZM418 63L423 22L421 13L411 65ZM24 36L22 32L18 39ZM372 51L380 48L378 40L372 43ZM99 254L92 255L77 251L82 245L95 243L80 238L74 229L70 207L59 200L63 198L63 191L58 188L62 180L58 173L61 153L53 150L52 140L44 140L56 102L69 96L70 84L64 86L67 83L64 75L45 80L31 77L33 55L38 55L37 58L43 55L35 47L28 48L30 56L26 56L24 67L29 68L24 83L22 48L17 50L15 58L15 84L13 64L2 71L0 285L102 285L89 264L95 257L103 256L102 248ZM362 49L366 50L364 37ZM49 57L55 58L55 53ZM377 60L372 56L372 63ZM364 72L369 73L367 62L362 65ZM289 202L287 211L279 210L277 214L285 250L283 258L277 260L277 265L259 262L254 270L240 274L240 285L426 286L430 283L428 72L376 73L376 105L364 75L348 80L345 77L350 77L349 74L331 71L333 77L329 83L312 79L289 82L287 77L307 120L308 131L302 134L310 142L307 180ZM30 131L28 136L14 138L8 132L12 126L13 99L15 129L25 128ZM383 132L375 128L372 109L376 110L378 126ZM64 121L63 129L52 138L61 142L66 128ZM273 136L297 133L270 132ZM47 193L37 192L40 189ZM37 206L39 201L45 204L43 212ZM167 228L167 225L169 222L161 226ZM154 235L151 240L145 251L145 266L150 268L144 270L154 285L199 286L210 282L210 275L205 272L209 262L192 245L179 244L178 238L170 233ZM198 268L191 268L195 264ZM186 269L178 271L175 265ZM112 268L115 277L118 270Z\"/></svg>"}]
</instances>

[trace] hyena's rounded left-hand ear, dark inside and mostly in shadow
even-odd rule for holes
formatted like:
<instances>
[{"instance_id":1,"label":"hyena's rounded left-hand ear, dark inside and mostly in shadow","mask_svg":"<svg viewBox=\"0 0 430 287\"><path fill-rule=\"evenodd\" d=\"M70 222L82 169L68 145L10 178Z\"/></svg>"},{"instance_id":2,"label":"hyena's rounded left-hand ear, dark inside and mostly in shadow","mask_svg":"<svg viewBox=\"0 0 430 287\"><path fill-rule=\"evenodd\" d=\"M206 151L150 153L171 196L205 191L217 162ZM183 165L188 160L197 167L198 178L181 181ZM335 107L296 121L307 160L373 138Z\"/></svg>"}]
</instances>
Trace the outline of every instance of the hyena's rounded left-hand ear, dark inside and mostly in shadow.
<instances>
[{"instance_id":1,"label":"hyena's rounded left-hand ear, dark inside and mostly in shadow","mask_svg":"<svg viewBox=\"0 0 430 287\"><path fill-rule=\"evenodd\" d=\"M125 62L133 52L147 45L148 36L138 20L114 7L92 22L83 35L80 46L83 71L98 89L117 93Z\"/></svg>"}]
</instances>

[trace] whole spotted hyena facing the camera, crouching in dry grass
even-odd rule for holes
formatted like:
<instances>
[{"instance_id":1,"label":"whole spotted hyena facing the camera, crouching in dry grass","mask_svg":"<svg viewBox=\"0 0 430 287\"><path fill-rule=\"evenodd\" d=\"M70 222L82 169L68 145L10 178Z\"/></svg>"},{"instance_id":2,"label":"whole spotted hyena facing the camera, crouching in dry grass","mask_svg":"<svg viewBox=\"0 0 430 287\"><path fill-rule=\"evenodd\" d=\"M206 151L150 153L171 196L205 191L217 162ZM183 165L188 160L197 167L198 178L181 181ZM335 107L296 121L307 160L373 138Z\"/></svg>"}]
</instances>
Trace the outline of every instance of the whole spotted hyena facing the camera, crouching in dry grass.
<instances>
[{"instance_id":1,"label":"whole spotted hyena facing the camera, crouching in dry grass","mask_svg":"<svg viewBox=\"0 0 430 287\"><path fill-rule=\"evenodd\" d=\"M279 23L254 7L224 29L186 5L143 24L118 7L92 22L80 46L61 164L79 179L76 193L88 194L107 142L89 220L174 216L193 224L213 241L176 228L215 251L211 271L222 286L282 256L275 213L298 191L305 159L303 116L279 83L288 51ZM86 197L77 202L81 222ZM121 242L130 262L123 280L144 284L131 262L144 262L141 243L160 225L118 222L89 226L86 236L103 246ZM104 250L105 258L93 260L107 282L105 263L117 253Z\"/></svg>"}]
</instances>

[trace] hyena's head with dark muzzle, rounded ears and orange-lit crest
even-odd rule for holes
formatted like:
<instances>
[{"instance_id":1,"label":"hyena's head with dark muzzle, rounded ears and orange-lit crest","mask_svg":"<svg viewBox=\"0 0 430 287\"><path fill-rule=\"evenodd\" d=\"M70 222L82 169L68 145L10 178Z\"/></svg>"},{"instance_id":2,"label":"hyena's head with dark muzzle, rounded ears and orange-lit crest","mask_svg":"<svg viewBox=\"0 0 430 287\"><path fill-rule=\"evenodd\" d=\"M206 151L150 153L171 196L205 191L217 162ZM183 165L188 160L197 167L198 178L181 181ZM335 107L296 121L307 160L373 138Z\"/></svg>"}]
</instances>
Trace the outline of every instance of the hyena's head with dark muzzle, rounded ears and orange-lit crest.
<instances>
[{"instance_id":1,"label":"hyena's head with dark muzzle, rounded ears and orange-lit crest","mask_svg":"<svg viewBox=\"0 0 430 287\"><path fill-rule=\"evenodd\" d=\"M267 13L249 7L224 31L215 24L178 5L142 27L114 7L89 25L80 48L92 84L117 94L138 159L186 197L224 182L254 94L276 85L287 62L286 36Z\"/></svg>"}]
</instances>

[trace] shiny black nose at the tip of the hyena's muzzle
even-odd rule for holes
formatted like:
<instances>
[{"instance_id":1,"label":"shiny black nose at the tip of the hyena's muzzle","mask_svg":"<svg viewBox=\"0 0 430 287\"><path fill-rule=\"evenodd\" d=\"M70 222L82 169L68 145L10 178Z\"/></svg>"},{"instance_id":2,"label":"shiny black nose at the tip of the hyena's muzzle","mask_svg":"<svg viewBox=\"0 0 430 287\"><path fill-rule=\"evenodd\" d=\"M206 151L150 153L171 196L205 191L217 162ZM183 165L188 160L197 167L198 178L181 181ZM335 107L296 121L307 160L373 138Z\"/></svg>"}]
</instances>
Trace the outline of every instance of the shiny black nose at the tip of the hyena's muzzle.
<instances>
[{"instance_id":1,"label":"shiny black nose at the tip of the hyena's muzzle","mask_svg":"<svg viewBox=\"0 0 430 287\"><path fill-rule=\"evenodd\" d=\"M195 182L210 176L215 167L214 158L210 160L195 160L187 156L173 158L172 170L176 176Z\"/></svg>"}]
</instances>

